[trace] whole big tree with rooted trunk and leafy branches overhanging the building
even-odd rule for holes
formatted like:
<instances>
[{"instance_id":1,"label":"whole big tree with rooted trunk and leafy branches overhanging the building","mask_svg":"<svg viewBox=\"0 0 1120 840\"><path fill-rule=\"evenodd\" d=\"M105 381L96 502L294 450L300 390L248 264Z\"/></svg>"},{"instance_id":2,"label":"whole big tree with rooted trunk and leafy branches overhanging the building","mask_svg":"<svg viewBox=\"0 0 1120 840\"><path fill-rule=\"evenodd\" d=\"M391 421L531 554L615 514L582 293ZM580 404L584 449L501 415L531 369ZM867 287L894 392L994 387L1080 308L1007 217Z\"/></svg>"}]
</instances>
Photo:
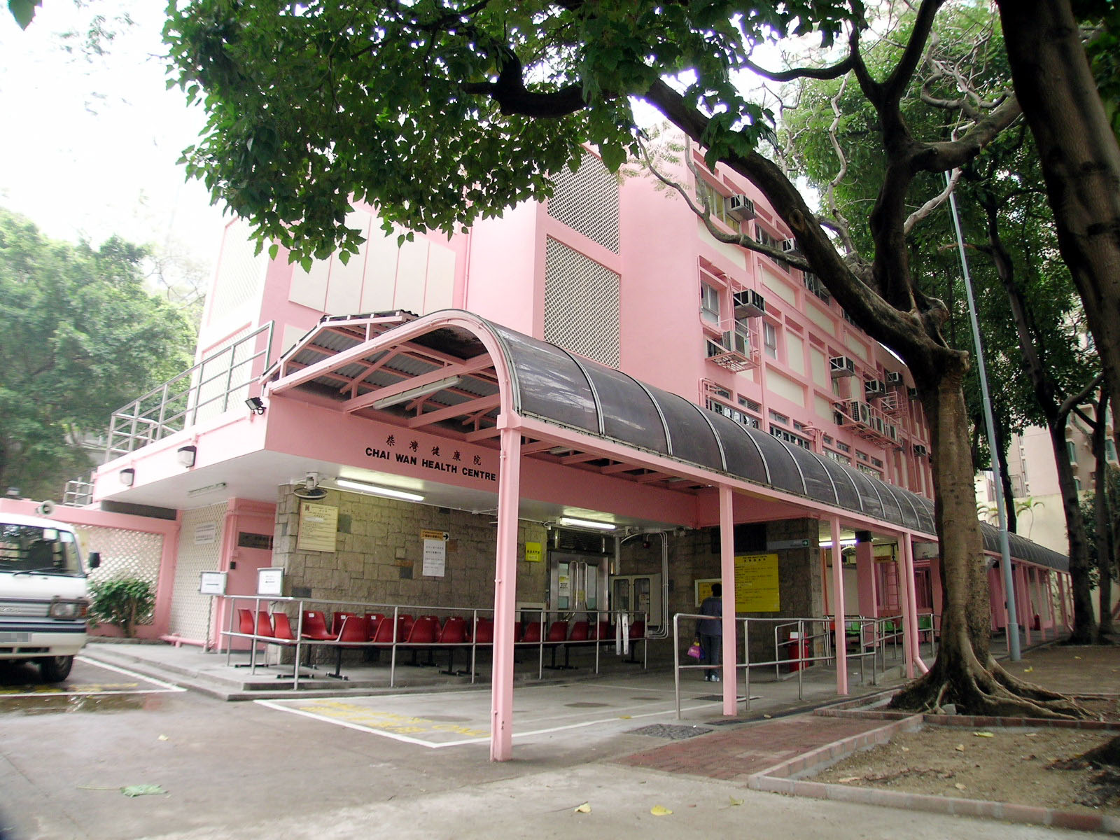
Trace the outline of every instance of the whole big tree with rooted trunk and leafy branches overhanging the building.
<instances>
[{"instance_id":1,"label":"whole big tree with rooted trunk and leafy branches overhanging the building","mask_svg":"<svg viewBox=\"0 0 1120 840\"><path fill-rule=\"evenodd\" d=\"M941 0L883 43L889 69L864 60L868 31L842 2L660 3L652 0L364 2L271 7L194 0L165 28L178 81L208 114L187 170L291 259L353 252L343 222L352 198L386 226L449 230L548 194L580 144L617 168L636 153L631 96L640 96L721 161L748 177L793 230L803 258L868 335L909 366L933 442L935 519L945 576L937 659L904 698L955 701L979 713L1075 713L1061 698L1004 671L989 651L986 568L972 487L962 383L968 354L948 346L944 304L914 280L906 196L920 177L960 168L1019 115L1014 96L974 109L951 140L923 139L899 103L931 44ZM765 73L753 46L847 34L831 66ZM897 46L896 46L897 44ZM870 103L885 156L860 256L759 153L772 115L736 85L755 69L777 81L851 72ZM988 97L991 101L991 97ZM756 242L737 244L780 259Z\"/></svg>"}]
</instances>

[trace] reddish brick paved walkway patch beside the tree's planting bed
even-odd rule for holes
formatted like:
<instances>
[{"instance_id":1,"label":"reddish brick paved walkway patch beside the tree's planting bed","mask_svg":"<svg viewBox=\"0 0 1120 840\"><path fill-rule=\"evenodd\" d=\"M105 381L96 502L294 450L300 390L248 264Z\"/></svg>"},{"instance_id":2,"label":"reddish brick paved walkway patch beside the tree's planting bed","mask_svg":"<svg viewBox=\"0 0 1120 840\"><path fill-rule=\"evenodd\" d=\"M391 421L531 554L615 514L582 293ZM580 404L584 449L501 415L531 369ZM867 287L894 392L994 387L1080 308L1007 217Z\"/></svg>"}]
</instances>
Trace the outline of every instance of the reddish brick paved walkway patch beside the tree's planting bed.
<instances>
[{"instance_id":1,"label":"reddish brick paved walkway patch beside the tree's planting bed","mask_svg":"<svg viewBox=\"0 0 1120 840\"><path fill-rule=\"evenodd\" d=\"M810 713L736 728L717 726L708 735L635 753L619 758L618 763L745 782L752 773L834 740L877 729L883 724L881 720L824 718Z\"/></svg>"}]
</instances>

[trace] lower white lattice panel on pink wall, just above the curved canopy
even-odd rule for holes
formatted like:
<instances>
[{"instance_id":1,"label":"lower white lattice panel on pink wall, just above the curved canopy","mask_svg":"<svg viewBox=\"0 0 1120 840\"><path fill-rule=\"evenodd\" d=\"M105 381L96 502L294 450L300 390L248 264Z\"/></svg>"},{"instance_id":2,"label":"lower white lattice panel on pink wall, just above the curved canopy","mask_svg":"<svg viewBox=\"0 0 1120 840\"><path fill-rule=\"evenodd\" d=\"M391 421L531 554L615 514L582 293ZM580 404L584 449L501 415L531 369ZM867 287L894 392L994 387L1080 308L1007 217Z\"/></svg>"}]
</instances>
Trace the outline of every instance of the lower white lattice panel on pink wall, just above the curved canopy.
<instances>
[{"instance_id":1,"label":"lower white lattice panel on pink wall, just above the curved canopy","mask_svg":"<svg viewBox=\"0 0 1120 840\"><path fill-rule=\"evenodd\" d=\"M544 340L618 366L614 271L550 239L544 254Z\"/></svg>"}]
</instances>

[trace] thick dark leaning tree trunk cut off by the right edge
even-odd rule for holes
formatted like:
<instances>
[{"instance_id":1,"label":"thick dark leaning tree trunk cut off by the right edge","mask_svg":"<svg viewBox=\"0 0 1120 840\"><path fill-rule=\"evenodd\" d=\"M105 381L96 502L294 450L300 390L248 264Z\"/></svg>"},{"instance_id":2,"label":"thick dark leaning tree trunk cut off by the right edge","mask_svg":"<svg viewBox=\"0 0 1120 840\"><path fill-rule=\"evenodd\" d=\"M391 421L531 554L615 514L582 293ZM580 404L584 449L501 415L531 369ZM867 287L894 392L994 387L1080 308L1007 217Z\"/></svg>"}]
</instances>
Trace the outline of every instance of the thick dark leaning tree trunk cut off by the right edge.
<instances>
[{"instance_id":1,"label":"thick dark leaning tree trunk cut off by the right edge","mask_svg":"<svg viewBox=\"0 0 1120 840\"><path fill-rule=\"evenodd\" d=\"M1038 147L1058 248L1120 394L1120 147L1070 0L997 0L1015 94ZM1120 424L1113 432L1120 447Z\"/></svg>"}]
</instances>

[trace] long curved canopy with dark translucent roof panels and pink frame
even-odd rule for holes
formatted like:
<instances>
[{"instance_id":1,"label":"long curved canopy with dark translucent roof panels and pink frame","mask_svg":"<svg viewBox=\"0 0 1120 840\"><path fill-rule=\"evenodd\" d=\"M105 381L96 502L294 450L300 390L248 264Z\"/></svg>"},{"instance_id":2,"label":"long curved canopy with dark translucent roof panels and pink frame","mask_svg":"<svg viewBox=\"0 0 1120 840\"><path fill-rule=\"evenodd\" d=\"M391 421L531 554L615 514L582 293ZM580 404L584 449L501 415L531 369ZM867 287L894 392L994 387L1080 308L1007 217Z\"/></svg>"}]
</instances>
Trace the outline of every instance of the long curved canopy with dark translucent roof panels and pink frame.
<instances>
[{"instance_id":1,"label":"long curved canopy with dark translucent roof panels and pink frame","mask_svg":"<svg viewBox=\"0 0 1120 840\"><path fill-rule=\"evenodd\" d=\"M382 389L400 391L412 379L451 372L456 374L454 381L449 379L446 388L424 393L422 404L418 401L402 408L394 403L395 408L385 410L414 410L412 424L424 417L432 423L438 418L442 423L469 414L475 433L484 433L496 423L498 377L493 364L498 362L492 360L488 367L479 367L477 363L473 367L456 367L456 362L461 366L480 358L486 349L466 327L441 323L454 316L467 316L480 324L501 346L513 385L512 407L520 416L860 513L916 533L931 536L935 533L933 502L923 496L702 409L620 371L461 310L427 316L426 319L433 321L431 332L414 336L411 349L386 345L395 328L419 326L411 314L324 318L263 379L282 376L292 366L312 366L325 355L347 353L345 365L314 377L307 385L317 388L320 394L337 394L337 399L353 405L347 410L362 410L377 408ZM384 329L371 334L371 323L384 324ZM349 353L374 336L377 349L371 351L368 357ZM463 410L456 411L457 408ZM998 531L981 524L984 548L998 551ZM1017 534L1010 534L1010 542L1014 557L1055 569L1068 568L1067 559L1056 551Z\"/></svg>"}]
</instances>

